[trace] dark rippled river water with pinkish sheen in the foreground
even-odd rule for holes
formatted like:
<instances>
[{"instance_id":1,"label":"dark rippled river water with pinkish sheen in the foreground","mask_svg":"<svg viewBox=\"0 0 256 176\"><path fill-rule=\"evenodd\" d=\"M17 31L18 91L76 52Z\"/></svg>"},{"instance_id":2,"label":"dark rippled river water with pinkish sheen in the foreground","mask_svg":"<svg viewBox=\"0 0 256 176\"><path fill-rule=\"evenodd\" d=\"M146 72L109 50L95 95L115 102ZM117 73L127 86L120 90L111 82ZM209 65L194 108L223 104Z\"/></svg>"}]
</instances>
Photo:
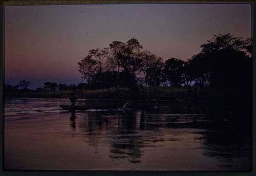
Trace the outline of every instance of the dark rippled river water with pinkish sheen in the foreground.
<instances>
[{"instance_id":1,"label":"dark rippled river water with pinkish sheen in the foreground","mask_svg":"<svg viewBox=\"0 0 256 176\"><path fill-rule=\"evenodd\" d=\"M118 102L78 101L86 103ZM5 169L250 169L250 124L205 115L203 102L159 102L154 111L125 113L71 113L60 104L69 100L5 101Z\"/></svg>"}]
</instances>

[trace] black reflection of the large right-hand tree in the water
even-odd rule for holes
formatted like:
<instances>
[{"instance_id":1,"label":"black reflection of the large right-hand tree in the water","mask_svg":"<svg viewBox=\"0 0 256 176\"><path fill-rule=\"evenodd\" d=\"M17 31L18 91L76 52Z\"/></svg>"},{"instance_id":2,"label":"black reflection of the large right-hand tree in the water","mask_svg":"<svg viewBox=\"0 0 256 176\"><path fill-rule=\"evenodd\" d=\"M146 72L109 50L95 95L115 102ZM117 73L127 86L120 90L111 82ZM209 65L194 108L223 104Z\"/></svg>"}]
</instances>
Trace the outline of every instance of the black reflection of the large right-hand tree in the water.
<instances>
[{"instance_id":1,"label":"black reflection of the large right-hand tree in the water","mask_svg":"<svg viewBox=\"0 0 256 176\"><path fill-rule=\"evenodd\" d=\"M250 163L251 129L250 125L237 121L216 120L211 124L201 124L201 128L207 129L201 133L203 140L203 153L208 157L214 157L219 161L225 161L222 167L230 167L236 158L245 158L244 163ZM199 127L199 126L198 126Z\"/></svg>"}]
</instances>

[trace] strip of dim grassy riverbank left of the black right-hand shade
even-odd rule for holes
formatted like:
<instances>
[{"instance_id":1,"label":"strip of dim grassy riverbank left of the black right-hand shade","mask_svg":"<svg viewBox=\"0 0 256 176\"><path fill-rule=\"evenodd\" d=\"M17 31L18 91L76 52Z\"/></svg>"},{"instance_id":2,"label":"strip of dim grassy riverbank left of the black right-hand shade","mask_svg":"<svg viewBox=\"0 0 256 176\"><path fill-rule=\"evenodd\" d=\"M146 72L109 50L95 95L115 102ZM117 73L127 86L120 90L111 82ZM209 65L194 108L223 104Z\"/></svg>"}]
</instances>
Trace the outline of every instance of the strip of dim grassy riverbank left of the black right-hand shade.
<instances>
[{"instance_id":1,"label":"strip of dim grassy riverbank left of the black right-hand shade","mask_svg":"<svg viewBox=\"0 0 256 176\"><path fill-rule=\"evenodd\" d=\"M6 98L69 98L72 91L34 91L17 90L6 91ZM186 87L149 87L148 90L142 88L139 90L135 99L175 99L185 100L194 99L197 93L193 93ZM100 89L100 90L78 90L78 98L86 99L130 99L134 92L127 88Z\"/></svg>"}]
</instances>

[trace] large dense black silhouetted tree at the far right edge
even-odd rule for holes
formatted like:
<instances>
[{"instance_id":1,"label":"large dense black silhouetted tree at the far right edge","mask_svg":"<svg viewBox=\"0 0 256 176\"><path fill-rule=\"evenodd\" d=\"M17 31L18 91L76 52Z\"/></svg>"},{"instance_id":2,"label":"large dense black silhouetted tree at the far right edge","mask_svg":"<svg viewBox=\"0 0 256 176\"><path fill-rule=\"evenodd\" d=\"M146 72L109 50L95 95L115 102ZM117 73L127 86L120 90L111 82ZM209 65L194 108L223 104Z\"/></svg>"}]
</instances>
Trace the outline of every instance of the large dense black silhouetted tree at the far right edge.
<instances>
[{"instance_id":1,"label":"large dense black silhouetted tree at the far right edge","mask_svg":"<svg viewBox=\"0 0 256 176\"><path fill-rule=\"evenodd\" d=\"M251 70L250 47L250 39L231 34L214 35L201 45L201 52L188 61L196 82L211 87L245 85Z\"/></svg>"}]
</instances>

